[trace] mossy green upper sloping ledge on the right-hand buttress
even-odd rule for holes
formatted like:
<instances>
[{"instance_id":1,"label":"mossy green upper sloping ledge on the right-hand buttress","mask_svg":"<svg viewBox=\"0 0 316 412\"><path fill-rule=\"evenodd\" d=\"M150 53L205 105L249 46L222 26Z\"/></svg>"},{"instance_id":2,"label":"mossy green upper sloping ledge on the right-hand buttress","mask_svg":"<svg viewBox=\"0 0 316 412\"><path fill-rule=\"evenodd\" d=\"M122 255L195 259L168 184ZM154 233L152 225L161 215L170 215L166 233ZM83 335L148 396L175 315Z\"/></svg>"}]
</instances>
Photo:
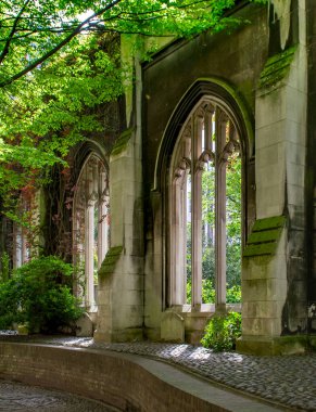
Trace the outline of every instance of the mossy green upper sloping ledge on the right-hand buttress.
<instances>
[{"instance_id":1,"label":"mossy green upper sloping ledge on the right-hand buttress","mask_svg":"<svg viewBox=\"0 0 316 412\"><path fill-rule=\"evenodd\" d=\"M296 47L285 50L269 57L260 76L258 87L269 88L283 79L290 72Z\"/></svg>"}]
</instances>

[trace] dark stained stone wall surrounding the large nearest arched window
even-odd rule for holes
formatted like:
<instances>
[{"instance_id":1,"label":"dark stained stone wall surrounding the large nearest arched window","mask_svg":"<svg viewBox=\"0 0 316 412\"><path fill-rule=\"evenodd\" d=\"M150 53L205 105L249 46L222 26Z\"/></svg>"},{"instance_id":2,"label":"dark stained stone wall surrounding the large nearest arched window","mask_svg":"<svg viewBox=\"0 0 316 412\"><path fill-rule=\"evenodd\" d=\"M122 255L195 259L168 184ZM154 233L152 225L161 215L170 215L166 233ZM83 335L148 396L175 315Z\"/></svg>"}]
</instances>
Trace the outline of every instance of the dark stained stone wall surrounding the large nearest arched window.
<instances>
[{"instance_id":1,"label":"dark stained stone wall surrounding the large nearest arched window","mask_svg":"<svg viewBox=\"0 0 316 412\"><path fill-rule=\"evenodd\" d=\"M143 176L146 198L146 326L149 336L159 337L161 313L167 306L167 165L181 124L175 125L173 142L165 131L189 88L212 78L229 85L236 100L243 102L244 118L254 130L254 90L268 53L267 9L249 4L237 12L250 21L232 33L201 35L180 41L159 53L143 66ZM215 81L216 81L215 80ZM206 90L205 90L206 92ZM191 102L191 105L193 103ZM187 107L187 115L192 106ZM186 108L181 114L186 118ZM242 136L244 241L255 220L254 139ZM166 149L168 146L168 149ZM160 159L162 159L160 162ZM203 329L204 320L195 320ZM194 323L190 320L189 323ZM187 322L188 323L188 322ZM192 326L194 327L194 326Z\"/></svg>"}]
</instances>

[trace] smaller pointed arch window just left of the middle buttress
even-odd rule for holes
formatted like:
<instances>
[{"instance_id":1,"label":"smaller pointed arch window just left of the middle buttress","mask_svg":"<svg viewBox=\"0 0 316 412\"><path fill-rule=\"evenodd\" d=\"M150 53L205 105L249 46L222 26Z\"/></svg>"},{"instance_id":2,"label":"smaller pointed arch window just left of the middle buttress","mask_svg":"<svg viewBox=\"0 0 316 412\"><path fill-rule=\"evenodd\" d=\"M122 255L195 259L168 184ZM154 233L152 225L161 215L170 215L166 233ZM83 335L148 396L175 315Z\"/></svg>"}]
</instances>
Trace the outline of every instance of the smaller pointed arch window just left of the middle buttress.
<instances>
[{"instance_id":1,"label":"smaller pointed arch window just left of the middle buttress","mask_svg":"<svg viewBox=\"0 0 316 412\"><path fill-rule=\"evenodd\" d=\"M110 247L109 176L102 159L92 153L79 175L74 196L74 261L78 273L75 292L93 311L98 270Z\"/></svg>"}]
</instances>

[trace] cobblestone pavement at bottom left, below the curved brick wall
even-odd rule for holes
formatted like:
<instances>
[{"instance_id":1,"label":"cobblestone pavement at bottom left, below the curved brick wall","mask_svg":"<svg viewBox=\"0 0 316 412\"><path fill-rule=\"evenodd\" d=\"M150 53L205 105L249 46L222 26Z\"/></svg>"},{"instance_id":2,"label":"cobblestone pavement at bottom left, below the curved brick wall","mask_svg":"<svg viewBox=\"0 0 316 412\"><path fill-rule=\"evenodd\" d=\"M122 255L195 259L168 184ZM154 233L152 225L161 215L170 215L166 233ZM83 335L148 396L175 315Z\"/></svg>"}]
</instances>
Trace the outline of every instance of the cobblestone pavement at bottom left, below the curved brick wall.
<instances>
[{"instance_id":1,"label":"cobblestone pavement at bottom left, below the curved brick wall","mask_svg":"<svg viewBox=\"0 0 316 412\"><path fill-rule=\"evenodd\" d=\"M116 409L58 390L0 381L0 412L115 412Z\"/></svg>"}]
</instances>

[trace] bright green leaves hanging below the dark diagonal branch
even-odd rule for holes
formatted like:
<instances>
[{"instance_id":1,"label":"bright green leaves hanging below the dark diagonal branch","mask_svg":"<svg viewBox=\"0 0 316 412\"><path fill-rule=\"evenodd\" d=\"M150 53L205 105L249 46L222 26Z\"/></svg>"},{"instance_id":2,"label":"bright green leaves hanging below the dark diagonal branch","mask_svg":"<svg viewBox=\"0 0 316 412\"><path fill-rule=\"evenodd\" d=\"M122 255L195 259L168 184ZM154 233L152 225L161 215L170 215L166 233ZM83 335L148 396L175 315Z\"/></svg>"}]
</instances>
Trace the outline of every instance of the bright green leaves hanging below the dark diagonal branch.
<instances>
[{"instance_id":1,"label":"bright green leaves hanging below the dark diagonal branch","mask_svg":"<svg viewBox=\"0 0 316 412\"><path fill-rule=\"evenodd\" d=\"M2 89L0 195L46 182L69 147L103 131L98 107L122 93L118 39L77 38L66 54ZM12 197L7 198L11 208Z\"/></svg>"}]
</instances>

